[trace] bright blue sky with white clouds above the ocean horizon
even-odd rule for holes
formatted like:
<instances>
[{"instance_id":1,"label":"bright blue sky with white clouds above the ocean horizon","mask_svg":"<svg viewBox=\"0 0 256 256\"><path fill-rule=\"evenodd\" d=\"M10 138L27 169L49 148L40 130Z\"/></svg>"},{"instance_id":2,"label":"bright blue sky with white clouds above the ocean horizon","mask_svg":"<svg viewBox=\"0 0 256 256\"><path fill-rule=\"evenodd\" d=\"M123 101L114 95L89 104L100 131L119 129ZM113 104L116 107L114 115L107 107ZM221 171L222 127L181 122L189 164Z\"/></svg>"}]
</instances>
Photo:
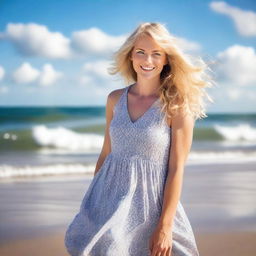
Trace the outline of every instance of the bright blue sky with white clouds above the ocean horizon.
<instances>
[{"instance_id":1,"label":"bright blue sky with white clouds above the ocean horizon","mask_svg":"<svg viewBox=\"0 0 256 256\"><path fill-rule=\"evenodd\" d=\"M105 106L126 85L113 53L142 22L209 64L208 113L255 112L254 0L0 0L0 106Z\"/></svg>"}]
</instances>

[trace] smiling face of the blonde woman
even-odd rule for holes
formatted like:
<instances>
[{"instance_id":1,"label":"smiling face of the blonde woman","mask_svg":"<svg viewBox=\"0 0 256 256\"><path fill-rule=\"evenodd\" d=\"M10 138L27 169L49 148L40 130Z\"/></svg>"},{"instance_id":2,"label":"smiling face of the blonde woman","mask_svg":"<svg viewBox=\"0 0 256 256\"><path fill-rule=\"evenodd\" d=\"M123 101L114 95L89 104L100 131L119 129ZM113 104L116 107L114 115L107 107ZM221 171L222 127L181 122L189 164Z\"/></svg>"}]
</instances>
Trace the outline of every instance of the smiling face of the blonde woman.
<instances>
[{"instance_id":1,"label":"smiling face of the blonde woman","mask_svg":"<svg viewBox=\"0 0 256 256\"><path fill-rule=\"evenodd\" d=\"M139 37L130 59L137 76L145 79L160 77L163 66L168 63L166 53L151 36Z\"/></svg>"}]
</instances>

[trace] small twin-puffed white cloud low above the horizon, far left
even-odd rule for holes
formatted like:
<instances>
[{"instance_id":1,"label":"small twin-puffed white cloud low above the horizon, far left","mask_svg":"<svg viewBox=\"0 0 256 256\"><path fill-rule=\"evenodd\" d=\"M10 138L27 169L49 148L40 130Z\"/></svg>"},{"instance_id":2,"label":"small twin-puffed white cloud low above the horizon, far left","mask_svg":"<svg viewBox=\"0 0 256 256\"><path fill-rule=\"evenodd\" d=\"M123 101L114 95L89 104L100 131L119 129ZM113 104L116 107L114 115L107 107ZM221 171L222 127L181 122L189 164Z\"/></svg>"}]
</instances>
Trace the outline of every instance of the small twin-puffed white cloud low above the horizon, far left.
<instances>
[{"instance_id":1,"label":"small twin-puffed white cloud low above the horizon, far left","mask_svg":"<svg viewBox=\"0 0 256 256\"><path fill-rule=\"evenodd\" d=\"M63 74L56 71L51 64L45 64L42 71L40 71L27 62L17 68L12 75L14 82L17 84L37 82L42 86L52 85L61 77L63 77Z\"/></svg>"}]
</instances>

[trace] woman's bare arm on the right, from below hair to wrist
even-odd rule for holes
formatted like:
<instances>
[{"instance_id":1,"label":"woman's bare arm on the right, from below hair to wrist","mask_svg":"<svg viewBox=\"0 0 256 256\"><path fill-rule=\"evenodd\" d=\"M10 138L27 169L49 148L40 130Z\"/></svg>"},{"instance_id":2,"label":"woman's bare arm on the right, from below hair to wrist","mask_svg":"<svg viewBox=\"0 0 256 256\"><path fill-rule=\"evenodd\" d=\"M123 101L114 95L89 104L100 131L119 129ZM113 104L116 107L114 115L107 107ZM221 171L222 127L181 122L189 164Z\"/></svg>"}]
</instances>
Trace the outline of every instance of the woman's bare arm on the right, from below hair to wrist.
<instances>
[{"instance_id":1,"label":"woman's bare arm on the right, from below hair to wrist","mask_svg":"<svg viewBox=\"0 0 256 256\"><path fill-rule=\"evenodd\" d=\"M173 220L180 199L184 165L193 139L194 119L190 115L177 114L172 119L169 169L164 189L163 207L159 226L173 227Z\"/></svg>"}]
</instances>

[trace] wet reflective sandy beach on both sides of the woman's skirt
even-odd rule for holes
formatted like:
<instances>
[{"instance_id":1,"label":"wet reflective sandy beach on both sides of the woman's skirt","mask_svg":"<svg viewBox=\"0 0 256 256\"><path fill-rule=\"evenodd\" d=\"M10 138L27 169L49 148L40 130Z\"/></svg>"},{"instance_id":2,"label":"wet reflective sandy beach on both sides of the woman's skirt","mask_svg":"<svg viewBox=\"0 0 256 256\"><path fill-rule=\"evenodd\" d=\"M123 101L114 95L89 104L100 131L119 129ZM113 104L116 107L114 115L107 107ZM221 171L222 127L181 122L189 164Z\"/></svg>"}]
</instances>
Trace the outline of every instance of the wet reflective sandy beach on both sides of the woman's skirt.
<instances>
[{"instance_id":1,"label":"wet reflective sandy beach on both sides of the woman's skirt","mask_svg":"<svg viewBox=\"0 0 256 256\"><path fill-rule=\"evenodd\" d=\"M185 167L181 202L200 255L255 255L255 166L251 162ZM65 230L91 179L89 174L5 179L0 184L0 255L68 255Z\"/></svg>"}]
</instances>

